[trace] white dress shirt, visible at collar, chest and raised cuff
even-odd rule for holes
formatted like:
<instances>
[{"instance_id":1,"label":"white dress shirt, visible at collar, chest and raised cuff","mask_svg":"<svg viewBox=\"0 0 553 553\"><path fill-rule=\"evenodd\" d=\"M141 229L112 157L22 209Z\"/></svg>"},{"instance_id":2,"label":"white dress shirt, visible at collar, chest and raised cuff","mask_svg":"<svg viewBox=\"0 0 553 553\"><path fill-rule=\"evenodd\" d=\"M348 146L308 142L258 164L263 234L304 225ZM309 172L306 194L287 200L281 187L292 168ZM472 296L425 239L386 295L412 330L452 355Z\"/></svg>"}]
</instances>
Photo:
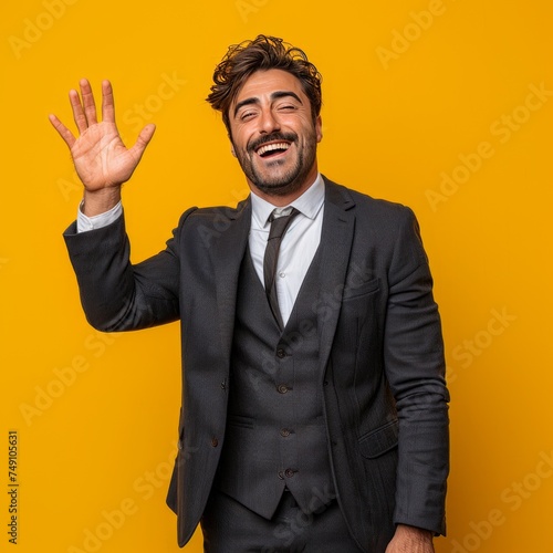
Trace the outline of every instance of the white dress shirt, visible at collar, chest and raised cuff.
<instances>
[{"instance_id":1,"label":"white dress shirt, visible at collar, chest and raised cuff","mask_svg":"<svg viewBox=\"0 0 553 553\"><path fill-rule=\"evenodd\" d=\"M269 217L273 210L294 207L300 213L292 220L282 238L276 263L275 285L282 321L286 321L303 283L303 279L313 261L321 242L324 211L324 181L319 174L313 185L298 199L283 208L275 208L255 194L251 195L251 227L249 234L250 254L261 283L263 279L263 257L271 223ZM100 229L114 222L123 212L121 201L105 213L86 217L77 210L77 232ZM263 284L264 285L264 284Z\"/></svg>"}]
</instances>

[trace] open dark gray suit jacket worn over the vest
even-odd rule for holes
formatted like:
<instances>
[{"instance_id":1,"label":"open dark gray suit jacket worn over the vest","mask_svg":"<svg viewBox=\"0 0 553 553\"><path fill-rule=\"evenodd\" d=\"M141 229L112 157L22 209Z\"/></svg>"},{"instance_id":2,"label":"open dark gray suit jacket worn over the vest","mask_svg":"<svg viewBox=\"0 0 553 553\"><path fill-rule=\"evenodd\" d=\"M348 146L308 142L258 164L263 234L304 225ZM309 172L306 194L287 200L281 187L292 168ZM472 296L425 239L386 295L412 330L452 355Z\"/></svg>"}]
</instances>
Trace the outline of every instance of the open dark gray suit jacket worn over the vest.
<instances>
[{"instance_id":1,"label":"open dark gray suit jacket worn over the vest","mask_svg":"<svg viewBox=\"0 0 553 553\"><path fill-rule=\"evenodd\" d=\"M449 396L440 320L413 212L327 179L325 186L325 270L313 304L319 379L338 502L354 538L373 551L392 521L445 533ZM250 219L249 199L237 209L189 209L166 250L135 265L123 218L65 232L94 327L181 321L180 449L168 497L180 545L201 517L225 440Z\"/></svg>"}]
</instances>

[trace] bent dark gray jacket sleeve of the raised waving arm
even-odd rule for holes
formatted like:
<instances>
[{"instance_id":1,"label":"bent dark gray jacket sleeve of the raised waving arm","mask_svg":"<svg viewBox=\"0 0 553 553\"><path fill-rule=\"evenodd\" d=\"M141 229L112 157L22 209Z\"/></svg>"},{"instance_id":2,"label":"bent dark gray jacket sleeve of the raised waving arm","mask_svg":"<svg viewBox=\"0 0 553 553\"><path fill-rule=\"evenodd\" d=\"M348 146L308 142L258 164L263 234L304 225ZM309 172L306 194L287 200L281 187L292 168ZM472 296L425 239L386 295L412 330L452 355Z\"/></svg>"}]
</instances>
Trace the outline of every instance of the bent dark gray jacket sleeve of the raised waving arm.
<instances>
[{"instance_id":1,"label":"bent dark gray jacket sleeve of the raised waving arm","mask_svg":"<svg viewBox=\"0 0 553 553\"><path fill-rule=\"evenodd\" d=\"M178 237L186 211L167 248L146 261L132 264L131 244L122 216L107 227L64 232L76 274L86 320L103 332L145 328L179 319Z\"/></svg>"}]
</instances>

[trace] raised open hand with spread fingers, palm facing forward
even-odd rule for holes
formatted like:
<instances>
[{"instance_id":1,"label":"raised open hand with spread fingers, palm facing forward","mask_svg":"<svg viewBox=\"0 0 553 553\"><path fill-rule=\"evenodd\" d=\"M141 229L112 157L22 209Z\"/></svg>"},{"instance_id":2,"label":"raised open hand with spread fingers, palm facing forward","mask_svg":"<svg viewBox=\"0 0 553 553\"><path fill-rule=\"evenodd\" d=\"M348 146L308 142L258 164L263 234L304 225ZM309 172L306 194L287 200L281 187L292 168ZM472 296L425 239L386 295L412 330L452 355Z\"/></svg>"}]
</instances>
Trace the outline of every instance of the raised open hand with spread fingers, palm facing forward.
<instances>
[{"instance_id":1,"label":"raised open hand with spread fingers, palm facing forward","mask_svg":"<svg viewBox=\"0 0 553 553\"><path fill-rule=\"evenodd\" d=\"M85 213L97 215L118 201L121 185L133 175L154 135L155 125L146 125L136 144L127 148L115 124L113 90L109 81L102 83L102 121L88 81L80 82L81 96L70 91L73 117L79 137L55 116L50 122L69 146L79 178L85 188Z\"/></svg>"}]
</instances>

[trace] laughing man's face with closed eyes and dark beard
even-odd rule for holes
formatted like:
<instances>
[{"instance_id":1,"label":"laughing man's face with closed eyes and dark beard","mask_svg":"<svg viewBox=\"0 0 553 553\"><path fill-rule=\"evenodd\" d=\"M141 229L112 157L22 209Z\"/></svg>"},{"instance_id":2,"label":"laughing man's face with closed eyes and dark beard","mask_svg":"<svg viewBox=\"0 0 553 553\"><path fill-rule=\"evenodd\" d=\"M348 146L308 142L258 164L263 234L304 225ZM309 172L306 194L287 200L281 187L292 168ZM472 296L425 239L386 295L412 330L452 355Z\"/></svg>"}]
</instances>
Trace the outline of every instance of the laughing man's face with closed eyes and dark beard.
<instances>
[{"instance_id":1,"label":"laughing man's face with closed eyes and dark beard","mask_svg":"<svg viewBox=\"0 0 553 553\"><path fill-rule=\"evenodd\" d=\"M232 153L261 196L303 191L316 177L321 117L300 81L285 71L258 71L229 108Z\"/></svg>"}]
</instances>

